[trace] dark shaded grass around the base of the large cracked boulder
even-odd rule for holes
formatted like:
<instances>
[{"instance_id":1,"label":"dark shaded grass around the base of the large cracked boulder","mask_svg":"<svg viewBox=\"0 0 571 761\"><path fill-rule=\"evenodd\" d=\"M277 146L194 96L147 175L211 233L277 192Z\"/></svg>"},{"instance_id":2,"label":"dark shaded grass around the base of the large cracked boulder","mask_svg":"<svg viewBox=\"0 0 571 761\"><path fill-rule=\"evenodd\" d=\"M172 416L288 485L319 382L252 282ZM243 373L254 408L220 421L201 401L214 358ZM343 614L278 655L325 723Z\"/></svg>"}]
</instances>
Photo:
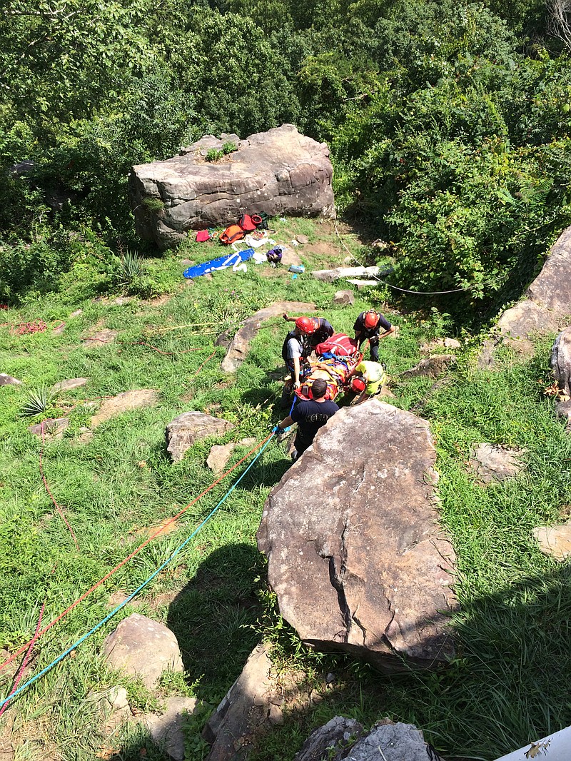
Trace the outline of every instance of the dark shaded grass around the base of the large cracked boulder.
<instances>
[{"instance_id":1,"label":"dark shaded grass around the base of the large cracked boulder","mask_svg":"<svg viewBox=\"0 0 571 761\"><path fill-rule=\"evenodd\" d=\"M254 547L230 545L213 552L171 604L168 625L187 677L200 679L197 694L210 705L260 642L264 577ZM292 759L311 731L335 715L365 726L389 715L416 724L442 755L471 759L495 759L571 724L569 565L538 569L501 594L464 604L455 622L455 660L433 672L388 676L346 655L308 651L273 615L274 654L286 669L302 667L305 677L298 699L284 706L282 726L254 740L256 761ZM120 758L139 758L139 749L126 748Z\"/></svg>"}]
</instances>

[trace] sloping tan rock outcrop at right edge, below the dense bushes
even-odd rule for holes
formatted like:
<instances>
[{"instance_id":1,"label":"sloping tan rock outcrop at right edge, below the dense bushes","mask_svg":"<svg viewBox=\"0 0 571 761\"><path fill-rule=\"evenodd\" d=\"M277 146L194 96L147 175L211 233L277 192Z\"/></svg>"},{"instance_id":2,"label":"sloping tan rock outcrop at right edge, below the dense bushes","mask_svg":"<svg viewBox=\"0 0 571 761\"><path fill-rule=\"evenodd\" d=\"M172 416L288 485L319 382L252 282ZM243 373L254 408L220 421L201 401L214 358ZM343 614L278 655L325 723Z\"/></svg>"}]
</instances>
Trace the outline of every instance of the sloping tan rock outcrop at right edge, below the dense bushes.
<instances>
[{"instance_id":1,"label":"sloping tan rock outcrop at right edge, below the dense bushes","mask_svg":"<svg viewBox=\"0 0 571 761\"><path fill-rule=\"evenodd\" d=\"M493 350L507 343L518 354L534 352L531 339L555 333L571 316L571 227L566 228L551 247L543 269L525 292L525 301L507 309L499 318L493 336L483 345L479 368L493 368Z\"/></svg>"}]
</instances>

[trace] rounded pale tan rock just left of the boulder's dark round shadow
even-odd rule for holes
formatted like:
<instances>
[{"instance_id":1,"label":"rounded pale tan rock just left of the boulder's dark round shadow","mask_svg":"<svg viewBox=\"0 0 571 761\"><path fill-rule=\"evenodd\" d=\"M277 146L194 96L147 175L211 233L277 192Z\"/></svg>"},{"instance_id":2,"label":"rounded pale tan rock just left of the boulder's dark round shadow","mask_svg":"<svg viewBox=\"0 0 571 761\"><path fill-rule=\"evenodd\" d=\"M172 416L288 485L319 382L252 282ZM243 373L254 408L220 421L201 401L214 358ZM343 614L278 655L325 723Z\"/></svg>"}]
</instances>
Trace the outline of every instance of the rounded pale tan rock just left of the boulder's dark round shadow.
<instances>
[{"instance_id":1,"label":"rounded pale tan rock just left of the boulder's dark round shadow","mask_svg":"<svg viewBox=\"0 0 571 761\"><path fill-rule=\"evenodd\" d=\"M164 670L184 670L171 629L140 613L132 613L111 632L104 654L108 666L139 677L148 689L156 686Z\"/></svg>"}]
</instances>

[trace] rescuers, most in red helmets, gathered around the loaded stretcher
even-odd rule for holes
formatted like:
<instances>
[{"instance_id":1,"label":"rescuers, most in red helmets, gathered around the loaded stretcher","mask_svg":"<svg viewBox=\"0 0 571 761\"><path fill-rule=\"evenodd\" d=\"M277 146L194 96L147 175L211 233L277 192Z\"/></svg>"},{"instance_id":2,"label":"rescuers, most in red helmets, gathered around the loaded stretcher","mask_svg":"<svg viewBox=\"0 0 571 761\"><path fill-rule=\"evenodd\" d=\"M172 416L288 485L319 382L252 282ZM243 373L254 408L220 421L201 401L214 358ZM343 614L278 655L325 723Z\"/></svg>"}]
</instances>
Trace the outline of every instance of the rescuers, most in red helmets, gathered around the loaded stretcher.
<instances>
[{"instance_id":1,"label":"rescuers, most in red helmets, gathered around the loaded stretcher","mask_svg":"<svg viewBox=\"0 0 571 761\"><path fill-rule=\"evenodd\" d=\"M282 356L292 374L295 390L301 386L308 356L317 344L333 336L334 330L324 317L289 317L288 314L283 314L283 319L295 323L295 328L286 336L282 349ZM380 339L393 336L396 327L391 325L380 312L370 309L359 314L353 330L355 330L355 340L359 349L365 341L368 341L371 347L371 361L361 361L349 375L349 387L359 395L356 404L361 404L381 391L384 368L378 361L378 342ZM339 409L335 402L325 398L326 394L327 381L317 378L311 385L313 399L299 402L277 426L276 432L281 433L284 428L289 428L293 423L298 424L293 460L297 460L311 446L319 428L325 425ZM282 397L282 401L284 400L289 406L286 396Z\"/></svg>"}]
</instances>

